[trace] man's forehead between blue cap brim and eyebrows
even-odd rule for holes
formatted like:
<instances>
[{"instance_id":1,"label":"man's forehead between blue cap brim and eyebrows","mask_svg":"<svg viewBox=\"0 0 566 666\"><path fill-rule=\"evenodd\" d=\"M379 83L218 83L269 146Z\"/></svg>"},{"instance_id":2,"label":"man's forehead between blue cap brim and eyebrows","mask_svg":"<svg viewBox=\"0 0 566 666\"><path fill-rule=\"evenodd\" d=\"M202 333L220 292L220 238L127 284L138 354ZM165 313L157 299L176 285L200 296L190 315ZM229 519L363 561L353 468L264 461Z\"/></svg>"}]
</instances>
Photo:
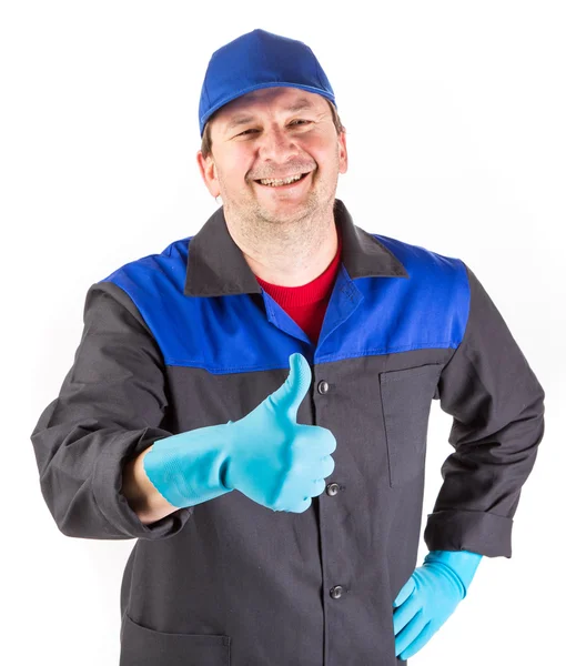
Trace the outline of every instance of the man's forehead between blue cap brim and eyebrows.
<instances>
[{"instance_id":1,"label":"man's forehead between blue cap brim and eyebrows","mask_svg":"<svg viewBox=\"0 0 566 666\"><path fill-rule=\"evenodd\" d=\"M224 127L236 118L245 115L279 111L296 112L309 109L317 112L330 110L326 100L320 94L299 88L263 88L243 94L222 107L216 111L214 121Z\"/></svg>"}]
</instances>

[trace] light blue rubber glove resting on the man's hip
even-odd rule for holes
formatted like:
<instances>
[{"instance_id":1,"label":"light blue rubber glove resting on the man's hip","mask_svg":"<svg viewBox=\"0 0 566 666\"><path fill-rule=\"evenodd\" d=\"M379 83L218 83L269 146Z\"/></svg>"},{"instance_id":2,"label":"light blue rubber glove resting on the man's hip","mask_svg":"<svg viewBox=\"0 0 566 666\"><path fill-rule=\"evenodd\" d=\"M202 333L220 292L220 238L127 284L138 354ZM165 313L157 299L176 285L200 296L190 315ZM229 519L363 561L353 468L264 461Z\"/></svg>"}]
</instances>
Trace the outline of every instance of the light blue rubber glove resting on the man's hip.
<instances>
[{"instance_id":1,"label":"light blue rubber glove resting on the man's hip","mask_svg":"<svg viewBox=\"0 0 566 666\"><path fill-rule=\"evenodd\" d=\"M395 655L415 655L466 596L482 555L468 551L432 551L393 602Z\"/></svg>"}]
</instances>

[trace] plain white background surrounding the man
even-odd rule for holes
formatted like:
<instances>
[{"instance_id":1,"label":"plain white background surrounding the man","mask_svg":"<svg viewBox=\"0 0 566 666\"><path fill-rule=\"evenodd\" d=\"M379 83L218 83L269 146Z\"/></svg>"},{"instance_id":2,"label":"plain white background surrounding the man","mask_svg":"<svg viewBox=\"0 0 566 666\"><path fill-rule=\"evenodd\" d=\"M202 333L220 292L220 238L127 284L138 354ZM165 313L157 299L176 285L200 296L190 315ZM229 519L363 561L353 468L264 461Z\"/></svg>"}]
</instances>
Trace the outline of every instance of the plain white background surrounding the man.
<instances>
[{"instance_id":1,"label":"plain white background surrounding the man","mask_svg":"<svg viewBox=\"0 0 566 666\"><path fill-rule=\"evenodd\" d=\"M200 89L212 52L254 28L301 39L326 71L350 152L337 196L354 222L466 261L547 394L513 557L484 558L411 664L564 658L562 4L2 2L2 663L118 664L133 541L63 536L29 436L72 364L88 287L216 209L195 161ZM435 402L425 514L451 423Z\"/></svg>"}]
</instances>

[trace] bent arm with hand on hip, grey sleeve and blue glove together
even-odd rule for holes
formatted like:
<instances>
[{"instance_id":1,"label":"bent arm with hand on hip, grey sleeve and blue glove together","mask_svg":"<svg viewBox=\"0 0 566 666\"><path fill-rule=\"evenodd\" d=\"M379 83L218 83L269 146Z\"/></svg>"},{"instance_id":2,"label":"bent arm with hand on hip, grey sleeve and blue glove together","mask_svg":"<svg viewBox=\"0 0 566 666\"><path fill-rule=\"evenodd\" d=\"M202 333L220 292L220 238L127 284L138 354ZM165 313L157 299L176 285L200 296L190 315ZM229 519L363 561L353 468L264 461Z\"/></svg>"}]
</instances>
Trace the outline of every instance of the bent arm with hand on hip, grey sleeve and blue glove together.
<instances>
[{"instance_id":1,"label":"bent arm with hand on hip, grey sleeve and blue glove together","mask_svg":"<svg viewBox=\"0 0 566 666\"><path fill-rule=\"evenodd\" d=\"M417 653L466 596L483 555L511 557L520 488L544 432L544 391L494 303L467 269L464 339L441 374L455 452L424 538L431 553L397 594L395 652Z\"/></svg>"}]
</instances>

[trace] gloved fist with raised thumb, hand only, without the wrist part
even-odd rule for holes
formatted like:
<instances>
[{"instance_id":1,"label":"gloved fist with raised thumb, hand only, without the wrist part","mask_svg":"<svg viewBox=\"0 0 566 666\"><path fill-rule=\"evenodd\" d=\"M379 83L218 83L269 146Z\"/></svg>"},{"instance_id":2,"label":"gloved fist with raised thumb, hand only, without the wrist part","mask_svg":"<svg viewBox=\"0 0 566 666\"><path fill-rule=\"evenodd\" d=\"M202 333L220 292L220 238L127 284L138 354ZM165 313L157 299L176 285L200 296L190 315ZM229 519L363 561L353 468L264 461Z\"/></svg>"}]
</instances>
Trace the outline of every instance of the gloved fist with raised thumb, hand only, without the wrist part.
<instances>
[{"instance_id":1,"label":"gloved fist with raised thumb, hand only, without the wrist part","mask_svg":"<svg viewBox=\"0 0 566 666\"><path fill-rule=\"evenodd\" d=\"M332 432L296 422L299 405L311 385L302 354L289 359L285 383L255 410L226 425L222 483L273 511L303 513L334 471Z\"/></svg>"}]
</instances>

